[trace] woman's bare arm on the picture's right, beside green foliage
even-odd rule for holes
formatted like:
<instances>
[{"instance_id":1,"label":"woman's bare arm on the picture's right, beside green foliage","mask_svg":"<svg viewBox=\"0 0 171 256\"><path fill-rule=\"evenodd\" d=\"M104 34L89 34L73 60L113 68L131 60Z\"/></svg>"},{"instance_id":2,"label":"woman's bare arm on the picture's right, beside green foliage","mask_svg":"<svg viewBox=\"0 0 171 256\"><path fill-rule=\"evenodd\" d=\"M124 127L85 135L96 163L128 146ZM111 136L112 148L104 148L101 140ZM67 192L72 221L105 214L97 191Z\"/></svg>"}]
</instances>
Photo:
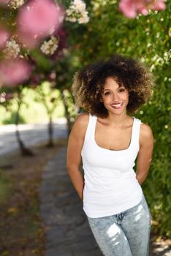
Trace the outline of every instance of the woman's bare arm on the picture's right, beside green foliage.
<instances>
[{"instance_id":1,"label":"woman's bare arm on the picture's right, beside green foliage","mask_svg":"<svg viewBox=\"0 0 171 256\"><path fill-rule=\"evenodd\" d=\"M140 127L140 150L137 155L136 178L141 185L148 176L153 155L153 132L148 124L141 124Z\"/></svg>"}]
</instances>

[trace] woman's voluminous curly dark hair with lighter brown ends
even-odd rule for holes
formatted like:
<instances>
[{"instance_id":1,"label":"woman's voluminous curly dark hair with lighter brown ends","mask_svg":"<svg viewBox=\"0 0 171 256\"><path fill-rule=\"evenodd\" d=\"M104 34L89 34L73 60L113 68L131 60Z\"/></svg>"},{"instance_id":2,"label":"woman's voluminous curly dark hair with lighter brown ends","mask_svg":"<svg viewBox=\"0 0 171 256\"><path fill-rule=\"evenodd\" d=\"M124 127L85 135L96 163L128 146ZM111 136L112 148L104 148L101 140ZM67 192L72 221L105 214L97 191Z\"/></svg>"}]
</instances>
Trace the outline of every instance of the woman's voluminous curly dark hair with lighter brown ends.
<instances>
[{"instance_id":1,"label":"woman's voluminous curly dark hair with lighter brown ends","mask_svg":"<svg viewBox=\"0 0 171 256\"><path fill-rule=\"evenodd\" d=\"M102 118L108 116L108 110L100 101L105 80L113 77L119 86L129 91L129 103L126 110L135 113L153 93L153 77L139 61L121 55L102 59L75 73L72 94L75 104L84 110Z\"/></svg>"}]
</instances>

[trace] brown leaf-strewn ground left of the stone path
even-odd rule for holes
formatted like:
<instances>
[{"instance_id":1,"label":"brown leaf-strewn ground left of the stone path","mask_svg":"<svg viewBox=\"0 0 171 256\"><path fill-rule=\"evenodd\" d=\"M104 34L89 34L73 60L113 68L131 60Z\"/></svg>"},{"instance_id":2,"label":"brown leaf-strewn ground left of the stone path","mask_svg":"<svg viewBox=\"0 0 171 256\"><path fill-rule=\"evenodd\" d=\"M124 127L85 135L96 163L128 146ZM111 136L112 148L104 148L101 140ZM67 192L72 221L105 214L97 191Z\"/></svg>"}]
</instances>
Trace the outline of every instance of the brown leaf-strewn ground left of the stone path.
<instances>
[{"instance_id":1,"label":"brown leaf-strewn ground left of the stone path","mask_svg":"<svg viewBox=\"0 0 171 256\"><path fill-rule=\"evenodd\" d=\"M1 157L0 255L44 255L45 233L39 215L39 184L48 160L66 140L56 146L32 147L34 157L14 152Z\"/></svg>"}]
</instances>

